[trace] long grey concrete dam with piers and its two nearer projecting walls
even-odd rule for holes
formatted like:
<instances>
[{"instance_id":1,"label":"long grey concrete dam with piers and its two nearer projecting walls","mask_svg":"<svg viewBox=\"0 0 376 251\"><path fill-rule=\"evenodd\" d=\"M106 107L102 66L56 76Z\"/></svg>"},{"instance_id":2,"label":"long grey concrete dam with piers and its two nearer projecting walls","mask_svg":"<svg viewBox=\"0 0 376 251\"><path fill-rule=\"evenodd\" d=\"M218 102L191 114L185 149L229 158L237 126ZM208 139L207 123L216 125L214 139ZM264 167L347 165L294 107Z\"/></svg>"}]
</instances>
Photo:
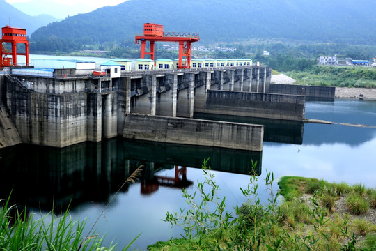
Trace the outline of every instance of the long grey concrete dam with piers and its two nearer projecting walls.
<instances>
[{"instance_id":1,"label":"long grey concrete dam with piers and its two nearer projecting walls","mask_svg":"<svg viewBox=\"0 0 376 251\"><path fill-rule=\"evenodd\" d=\"M0 75L0 148L20 142L62 148L124 137L262 151L263 126L193 119L194 114L304 119L304 93L270 93L272 69L266 66L51 74L12 69ZM318 88L334 97L334 88Z\"/></svg>"}]
</instances>

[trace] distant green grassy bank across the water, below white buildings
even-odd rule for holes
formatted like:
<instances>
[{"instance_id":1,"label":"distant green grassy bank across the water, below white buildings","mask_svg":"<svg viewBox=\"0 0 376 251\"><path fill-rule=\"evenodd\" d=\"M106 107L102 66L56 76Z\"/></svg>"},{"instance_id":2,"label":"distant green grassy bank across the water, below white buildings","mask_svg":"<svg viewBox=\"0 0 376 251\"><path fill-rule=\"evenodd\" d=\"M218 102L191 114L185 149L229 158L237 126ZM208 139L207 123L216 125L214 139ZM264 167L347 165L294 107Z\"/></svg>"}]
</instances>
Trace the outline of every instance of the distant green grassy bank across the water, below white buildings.
<instances>
[{"instance_id":1,"label":"distant green grassy bank across the water, below white buildings","mask_svg":"<svg viewBox=\"0 0 376 251\"><path fill-rule=\"evenodd\" d=\"M304 71L286 72L285 75L296 79L295 84L376 88L376 68L313 66Z\"/></svg>"}]
</instances>

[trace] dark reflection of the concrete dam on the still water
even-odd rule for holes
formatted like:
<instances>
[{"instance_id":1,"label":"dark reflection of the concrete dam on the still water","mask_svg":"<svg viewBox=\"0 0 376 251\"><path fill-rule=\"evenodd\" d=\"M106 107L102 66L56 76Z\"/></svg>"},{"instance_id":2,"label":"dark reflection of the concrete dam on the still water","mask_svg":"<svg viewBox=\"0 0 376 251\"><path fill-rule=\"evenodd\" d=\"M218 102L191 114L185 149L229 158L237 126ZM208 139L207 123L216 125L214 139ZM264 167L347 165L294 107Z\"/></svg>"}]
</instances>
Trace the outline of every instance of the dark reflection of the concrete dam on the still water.
<instances>
[{"instance_id":1,"label":"dark reflection of the concrete dam on the still water","mask_svg":"<svg viewBox=\"0 0 376 251\"><path fill-rule=\"evenodd\" d=\"M143 157L143 158L141 158ZM167 185L155 172L178 165L176 185L191 185L182 167L201 167L210 158L212 169L248 174L251 160L261 169L261 153L196 146L111 139L83 143L63 149L18 145L0 151L0 199L11 195L18 204L50 211L70 204L72 208L89 201L105 202L143 164L141 185ZM180 176L182 176L180 178ZM173 177L175 178L175 177ZM155 183L157 181L157 183ZM128 186L123 187L123 192ZM143 188L141 188L143 189ZM146 192L146 190L144 190Z\"/></svg>"}]
</instances>

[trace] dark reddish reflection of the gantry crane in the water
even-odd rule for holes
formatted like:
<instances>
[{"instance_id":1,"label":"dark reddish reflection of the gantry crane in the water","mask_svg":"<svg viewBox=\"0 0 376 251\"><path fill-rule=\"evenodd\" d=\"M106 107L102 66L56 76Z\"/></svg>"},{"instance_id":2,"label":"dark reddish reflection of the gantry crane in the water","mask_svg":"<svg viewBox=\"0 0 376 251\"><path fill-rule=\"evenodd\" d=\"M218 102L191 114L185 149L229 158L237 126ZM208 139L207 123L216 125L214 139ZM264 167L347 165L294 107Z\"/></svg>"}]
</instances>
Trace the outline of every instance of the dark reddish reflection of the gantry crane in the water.
<instances>
[{"instance_id":1,"label":"dark reddish reflection of the gantry crane in the water","mask_svg":"<svg viewBox=\"0 0 376 251\"><path fill-rule=\"evenodd\" d=\"M182 174L181 179L179 177L180 174ZM141 183L141 193L143 195L150 195L152 192L159 189L159 185L182 189L187 188L192 184L192 181L187 180L187 167L182 167L179 169L179 167L175 165L175 177L172 178L155 175L152 181L143 181Z\"/></svg>"}]
</instances>

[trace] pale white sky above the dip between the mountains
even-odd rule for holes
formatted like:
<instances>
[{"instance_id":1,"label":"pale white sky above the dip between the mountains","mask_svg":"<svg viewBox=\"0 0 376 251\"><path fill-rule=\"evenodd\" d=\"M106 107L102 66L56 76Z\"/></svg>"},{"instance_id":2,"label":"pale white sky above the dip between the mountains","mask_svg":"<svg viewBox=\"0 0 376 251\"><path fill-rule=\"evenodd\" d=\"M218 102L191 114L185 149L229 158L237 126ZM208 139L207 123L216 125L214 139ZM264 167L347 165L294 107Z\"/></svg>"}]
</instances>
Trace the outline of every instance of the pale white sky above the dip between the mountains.
<instances>
[{"instance_id":1,"label":"pale white sky above the dip between the mountains","mask_svg":"<svg viewBox=\"0 0 376 251\"><path fill-rule=\"evenodd\" d=\"M104 6L116 6L124 1L127 0L6 0L28 15L48 14L59 19L68 15L88 13Z\"/></svg>"}]
</instances>

